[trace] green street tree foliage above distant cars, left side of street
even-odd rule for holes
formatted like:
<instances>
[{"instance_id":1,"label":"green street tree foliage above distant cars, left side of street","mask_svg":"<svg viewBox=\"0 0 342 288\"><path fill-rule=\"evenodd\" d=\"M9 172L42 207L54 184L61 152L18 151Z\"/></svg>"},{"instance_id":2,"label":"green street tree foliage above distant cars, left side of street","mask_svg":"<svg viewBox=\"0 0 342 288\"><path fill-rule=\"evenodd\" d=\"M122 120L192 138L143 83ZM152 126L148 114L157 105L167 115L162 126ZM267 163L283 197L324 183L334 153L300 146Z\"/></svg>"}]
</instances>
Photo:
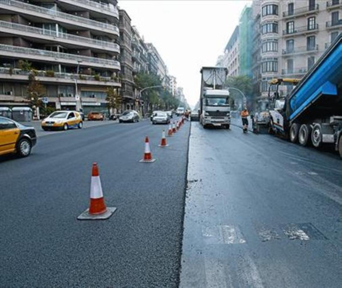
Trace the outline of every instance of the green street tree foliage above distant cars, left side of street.
<instances>
[{"instance_id":1,"label":"green street tree foliage above distant cars, left side of street","mask_svg":"<svg viewBox=\"0 0 342 288\"><path fill-rule=\"evenodd\" d=\"M162 81L158 75L138 73L134 77L135 86L142 90L146 87L162 85ZM163 88L160 89L147 89L142 92L142 99L147 104L146 107L157 109L174 109L178 106L179 100L175 99L171 93Z\"/></svg>"}]
</instances>

